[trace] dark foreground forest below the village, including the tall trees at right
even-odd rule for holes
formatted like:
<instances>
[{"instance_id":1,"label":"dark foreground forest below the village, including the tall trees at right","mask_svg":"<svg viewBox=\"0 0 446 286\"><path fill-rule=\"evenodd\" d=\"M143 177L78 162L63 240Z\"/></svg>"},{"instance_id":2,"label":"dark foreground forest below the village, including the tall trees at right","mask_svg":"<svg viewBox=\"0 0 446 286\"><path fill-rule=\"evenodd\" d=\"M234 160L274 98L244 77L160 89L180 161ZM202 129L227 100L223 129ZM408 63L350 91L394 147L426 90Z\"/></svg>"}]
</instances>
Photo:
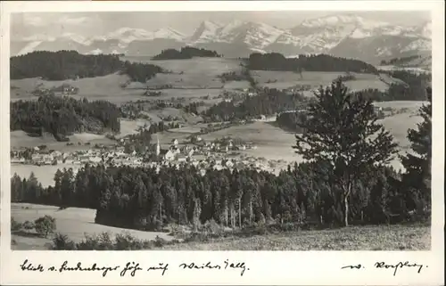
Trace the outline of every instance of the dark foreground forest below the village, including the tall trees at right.
<instances>
[{"instance_id":1,"label":"dark foreground forest below the village, including the tall trees at right","mask_svg":"<svg viewBox=\"0 0 446 286\"><path fill-rule=\"evenodd\" d=\"M428 94L431 91L428 90ZM214 170L84 166L58 171L54 186L12 177L12 201L95 208L95 222L142 230L162 225L254 223L350 225L429 217L432 108L409 131L404 172L387 163L396 144L376 122L372 102L341 82L321 89L299 126L294 150L306 161L278 176L252 168ZM375 136L372 136L375 135ZM29 181L31 183L29 183Z\"/></svg>"}]
</instances>

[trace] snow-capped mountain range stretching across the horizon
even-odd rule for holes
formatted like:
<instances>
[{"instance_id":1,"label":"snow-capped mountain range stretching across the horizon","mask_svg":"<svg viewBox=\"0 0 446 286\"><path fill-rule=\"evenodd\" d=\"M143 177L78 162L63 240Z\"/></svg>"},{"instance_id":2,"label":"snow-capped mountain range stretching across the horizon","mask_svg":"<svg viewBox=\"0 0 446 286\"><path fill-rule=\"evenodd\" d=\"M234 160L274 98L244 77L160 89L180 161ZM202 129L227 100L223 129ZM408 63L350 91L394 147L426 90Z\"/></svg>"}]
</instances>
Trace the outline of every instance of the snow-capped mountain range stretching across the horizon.
<instances>
[{"instance_id":1,"label":"snow-capped mountain range stretching across the horizon","mask_svg":"<svg viewBox=\"0 0 446 286\"><path fill-rule=\"evenodd\" d=\"M260 22L234 20L227 24L202 21L192 35L171 28L120 28L100 37L65 33L60 37L34 35L11 41L11 54L33 51L76 50L78 53L125 53L155 55L163 49L192 45L214 50L226 57L245 57L253 52L327 53L370 63L432 50L431 22L420 26L392 25L356 15L332 15L303 20L290 29Z\"/></svg>"}]
</instances>

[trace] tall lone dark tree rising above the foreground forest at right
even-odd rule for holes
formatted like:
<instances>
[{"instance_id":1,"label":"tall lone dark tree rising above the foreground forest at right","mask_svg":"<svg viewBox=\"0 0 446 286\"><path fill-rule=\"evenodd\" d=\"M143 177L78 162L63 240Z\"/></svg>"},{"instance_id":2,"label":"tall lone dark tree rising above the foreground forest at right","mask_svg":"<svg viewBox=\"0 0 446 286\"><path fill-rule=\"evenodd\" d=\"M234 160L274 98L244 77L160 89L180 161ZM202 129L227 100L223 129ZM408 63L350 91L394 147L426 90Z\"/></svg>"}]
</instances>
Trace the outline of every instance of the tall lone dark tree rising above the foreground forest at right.
<instances>
[{"instance_id":1,"label":"tall lone dark tree rising above the foreground forest at right","mask_svg":"<svg viewBox=\"0 0 446 286\"><path fill-rule=\"evenodd\" d=\"M362 94L348 93L341 80L321 88L316 102L309 104L307 118L298 123L305 132L296 135L293 148L303 159L329 163L332 187L343 196L344 225L349 225L349 198L355 178L368 167L382 165L396 153L392 135L376 123L371 101Z\"/></svg>"}]
</instances>

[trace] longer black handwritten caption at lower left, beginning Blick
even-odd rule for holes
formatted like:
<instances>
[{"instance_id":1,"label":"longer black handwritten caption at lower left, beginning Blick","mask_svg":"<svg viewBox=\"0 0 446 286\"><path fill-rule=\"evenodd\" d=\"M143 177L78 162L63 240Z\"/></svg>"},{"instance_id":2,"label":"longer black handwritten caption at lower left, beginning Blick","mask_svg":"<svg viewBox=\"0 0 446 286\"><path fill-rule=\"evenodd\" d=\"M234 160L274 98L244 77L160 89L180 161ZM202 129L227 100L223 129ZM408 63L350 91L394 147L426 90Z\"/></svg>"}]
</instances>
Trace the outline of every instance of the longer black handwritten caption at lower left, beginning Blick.
<instances>
[{"instance_id":1,"label":"longer black handwritten caption at lower left, beginning Blick","mask_svg":"<svg viewBox=\"0 0 446 286\"><path fill-rule=\"evenodd\" d=\"M123 265L113 265L113 266L101 266L97 263L91 265L83 264L82 262L70 263L68 260L62 262L59 266L44 266L42 264L33 264L28 259L25 259L20 265L21 271L30 271L37 273L44 272L98 272L102 273L103 277L110 273L120 273L121 277L126 275L134 277L136 273L149 272L157 273L163 276L167 274L169 269L177 268L179 270L185 271L196 271L196 270L216 270L216 271L232 271L243 276L244 273L250 270L244 262L230 262L228 259L223 261L221 264L211 263L195 263L195 262L184 262L177 266L170 266L168 263L159 263L153 266L143 266L138 262L128 262Z\"/></svg>"}]
</instances>

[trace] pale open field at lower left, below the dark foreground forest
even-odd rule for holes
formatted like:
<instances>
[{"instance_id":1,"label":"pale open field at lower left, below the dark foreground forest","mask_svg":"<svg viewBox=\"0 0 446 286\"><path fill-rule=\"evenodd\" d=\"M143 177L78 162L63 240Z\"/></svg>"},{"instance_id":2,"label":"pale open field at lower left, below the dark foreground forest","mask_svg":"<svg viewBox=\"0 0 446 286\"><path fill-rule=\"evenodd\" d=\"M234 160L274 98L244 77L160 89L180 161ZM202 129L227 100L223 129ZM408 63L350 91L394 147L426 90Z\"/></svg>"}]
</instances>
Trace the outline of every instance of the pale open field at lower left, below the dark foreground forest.
<instances>
[{"instance_id":1,"label":"pale open field at lower left, below the dark foreground forest","mask_svg":"<svg viewBox=\"0 0 446 286\"><path fill-rule=\"evenodd\" d=\"M23 223L27 220L34 221L38 217L51 216L56 219L57 232L66 234L72 241L81 241L84 234L111 233L115 235L126 231L141 240L154 240L156 236L169 241L173 237L168 233L141 232L127 230L118 227L95 224L95 209L89 208L65 208L59 210L57 207L44 206L28 203L12 203L11 217L17 222ZM12 245L12 249L47 249L45 244L50 243L50 238L24 237L12 235L12 239L17 242Z\"/></svg>"}]
</instances>

